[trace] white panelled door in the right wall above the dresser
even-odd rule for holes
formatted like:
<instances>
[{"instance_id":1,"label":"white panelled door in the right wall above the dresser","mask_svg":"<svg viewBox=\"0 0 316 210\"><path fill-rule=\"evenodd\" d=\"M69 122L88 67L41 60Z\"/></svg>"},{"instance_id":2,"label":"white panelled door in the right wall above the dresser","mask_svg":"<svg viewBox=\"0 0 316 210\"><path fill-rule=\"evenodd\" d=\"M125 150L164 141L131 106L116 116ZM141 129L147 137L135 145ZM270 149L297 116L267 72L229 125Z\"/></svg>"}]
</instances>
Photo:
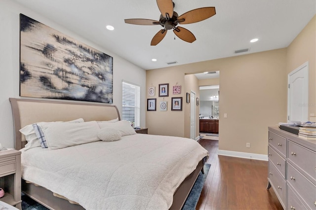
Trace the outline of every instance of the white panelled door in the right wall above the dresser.
<instances>
[{"instance_id":1,"label":"white panelled door in the right wall above the dresser","mask_svg":"<svg viewBox=\"0 0 316 210\"><path fill-rule=\"evenodd\" d=\"M308 62L287 76L287 120L308 121Z\"/></svg>"}]
</instances>

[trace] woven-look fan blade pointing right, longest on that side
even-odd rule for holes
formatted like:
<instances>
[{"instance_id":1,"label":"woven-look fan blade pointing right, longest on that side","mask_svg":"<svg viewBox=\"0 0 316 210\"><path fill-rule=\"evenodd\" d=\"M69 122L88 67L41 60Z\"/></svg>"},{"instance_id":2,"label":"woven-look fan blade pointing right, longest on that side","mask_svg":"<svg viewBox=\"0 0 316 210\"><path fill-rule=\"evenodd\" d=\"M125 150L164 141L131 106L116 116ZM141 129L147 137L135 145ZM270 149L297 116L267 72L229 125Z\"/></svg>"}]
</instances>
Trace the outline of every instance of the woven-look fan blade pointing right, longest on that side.
<instances>
[{"instance_id":1,"label":"woven-look fan blade pointing right, longest on that side","mask_svg":"<svg viewBox=\"0 0 316 210\"><path fill-rule=\"evenodd\" d=\"M215 14L215 7L202 7L193 9L189 12L180 15L178 17L178 20L180 20L180 24L196 23L207 18L210 18ZM184 21L181 21L182 19L184 19Z\"/></svg>"}]
</instances>

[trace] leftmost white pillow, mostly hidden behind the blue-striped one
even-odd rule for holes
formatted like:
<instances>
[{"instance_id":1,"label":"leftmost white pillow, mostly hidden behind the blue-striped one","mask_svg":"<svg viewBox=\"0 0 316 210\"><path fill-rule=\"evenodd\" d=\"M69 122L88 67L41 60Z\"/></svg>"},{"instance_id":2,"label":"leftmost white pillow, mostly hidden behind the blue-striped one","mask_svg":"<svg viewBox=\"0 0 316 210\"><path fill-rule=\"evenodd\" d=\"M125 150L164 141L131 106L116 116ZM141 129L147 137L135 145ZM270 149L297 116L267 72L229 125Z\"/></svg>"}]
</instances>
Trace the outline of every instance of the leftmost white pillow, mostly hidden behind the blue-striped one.
<instances>
[{"instance_id":1,"label":"leftmost white pillow, mostly hidden behind the blue-striped one","mask_svg":"<svg viewBox=\"0 0 316 210\"><path fill-rule=\"evenodd\" d=\"M58 122L63 122L63 121L58 121ZM82 118L79 118L76 120L67 121L66 123L76 123L76 122L84 122L84 120ZM45 123L55 123L55 122L38 122L34 124L41 125ZM38 136L36 135L34 127L33 127L34 124L27 125L20 129L20 132L25 135L25 139L28 142L27 144L25 144L25 150L40 146L40 140Z\"/></svg>"}]
</instances>

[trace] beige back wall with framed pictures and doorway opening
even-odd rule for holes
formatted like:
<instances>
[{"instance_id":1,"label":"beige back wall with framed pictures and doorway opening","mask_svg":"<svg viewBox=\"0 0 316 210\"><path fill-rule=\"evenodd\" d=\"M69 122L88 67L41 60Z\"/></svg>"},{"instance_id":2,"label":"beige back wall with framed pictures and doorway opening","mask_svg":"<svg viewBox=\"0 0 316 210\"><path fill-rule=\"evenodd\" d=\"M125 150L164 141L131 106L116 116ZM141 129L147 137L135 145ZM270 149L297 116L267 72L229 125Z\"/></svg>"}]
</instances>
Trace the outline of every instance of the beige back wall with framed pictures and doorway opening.
<instances>
[{"instance_id":1,"label":"beige back wall with framed pictures and doorway opening","mask_svg":"<svg viewBox=\"0 0 316 210\"><path fill-rule=\"evenodd\" d=\"M156 80L175 83L185 73L213 67L220 70L220 141L219 149L266 154L267 127L286 119L286 49L204 61L171 68L147 70L147 85ZM167 73L168 76L163 76ZM182 83L183 84L183 83ZM239 93L243 94L239 94ZM238 93L238 94L237 94ZM184 96L184 95L183 95ZM181 118L187 114L184 107ZM223 113L228 118L223 118ZM173 113L162 116L147 112L146 125L155 134L172 134ZM179 119L180 116L178 116ZM171 121L171 122L170 122ZM182 121L185 123L186 121ZM152 128L152 127L153 128ZM187 128L188 125L184 126ZM163 127L163 129L161 129ZM175 132L178 133L178 132ZM179 136L187 136L180 133ZM251 148L246 148L250 142Z\"/></svg>"}]
</instances>

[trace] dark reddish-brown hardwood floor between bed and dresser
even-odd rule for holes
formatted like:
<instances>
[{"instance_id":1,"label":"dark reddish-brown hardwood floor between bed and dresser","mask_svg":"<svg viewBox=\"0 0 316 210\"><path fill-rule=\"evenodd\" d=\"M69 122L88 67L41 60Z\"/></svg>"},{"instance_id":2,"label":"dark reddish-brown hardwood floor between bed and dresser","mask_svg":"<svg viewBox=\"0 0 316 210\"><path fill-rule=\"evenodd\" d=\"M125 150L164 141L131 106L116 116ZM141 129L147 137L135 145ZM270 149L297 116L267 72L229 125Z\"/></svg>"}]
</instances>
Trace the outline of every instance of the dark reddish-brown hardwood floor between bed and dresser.
<instances>
[{"instance_id":1,"label":"dark reddish-brown hardwood floor between bed and dresser","mask_svg":"<svg viewBox=\"0 0 316 210\"><path fill-rule=\"evenodd\" d=\"M267 187L268 162L217 155L218 140L200 139L211 164L197 210L282 210Z\"/></svg>"}]
</instances>

